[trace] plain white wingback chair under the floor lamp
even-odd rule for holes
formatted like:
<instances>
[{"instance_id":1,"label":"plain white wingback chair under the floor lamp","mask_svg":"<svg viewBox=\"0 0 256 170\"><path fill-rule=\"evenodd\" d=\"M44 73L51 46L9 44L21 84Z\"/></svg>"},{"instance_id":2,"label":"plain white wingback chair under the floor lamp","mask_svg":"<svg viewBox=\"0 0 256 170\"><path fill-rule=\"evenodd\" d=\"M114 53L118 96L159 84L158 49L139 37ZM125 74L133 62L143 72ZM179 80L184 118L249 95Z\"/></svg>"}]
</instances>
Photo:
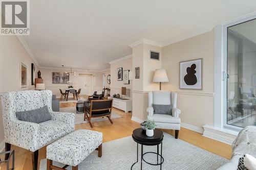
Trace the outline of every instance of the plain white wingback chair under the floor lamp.
<instances>
[{"instance_id":1,"label":"plain white wingback chair under the floor lamp","mask_svg":"<svg viewBox=\"0 0 256 170\"><path fill-rule=\"evenodd\" d=\"M172 115L154 114L153 104L172 105ZM180 130L180 109L177 108L177 93L172 91L151 91L148 93L147 119L154 120L157 128L175 130L175 138L178 138Z\"/></svg>"}]
</instances>

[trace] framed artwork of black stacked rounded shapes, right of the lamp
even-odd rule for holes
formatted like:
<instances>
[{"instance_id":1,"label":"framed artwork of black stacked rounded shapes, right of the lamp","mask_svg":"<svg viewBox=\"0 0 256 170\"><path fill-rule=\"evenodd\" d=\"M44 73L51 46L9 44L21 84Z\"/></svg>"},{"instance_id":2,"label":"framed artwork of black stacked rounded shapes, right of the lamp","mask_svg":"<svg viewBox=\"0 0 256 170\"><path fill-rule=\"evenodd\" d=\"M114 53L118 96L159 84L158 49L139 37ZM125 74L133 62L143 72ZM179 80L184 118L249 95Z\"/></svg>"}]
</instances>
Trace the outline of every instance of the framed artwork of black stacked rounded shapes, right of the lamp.
<instances>
[{"instance_id":1,"label":"framed artwork of black stacked rounded shapes, right of the lamp","mask_svg":"<svg viewBox=\"0 0 256 170\"><path fill-rule=\"evenodd\" d=\"M180 89L202 90L202 58L180 62Z\"/></svg>"}]
</instances>

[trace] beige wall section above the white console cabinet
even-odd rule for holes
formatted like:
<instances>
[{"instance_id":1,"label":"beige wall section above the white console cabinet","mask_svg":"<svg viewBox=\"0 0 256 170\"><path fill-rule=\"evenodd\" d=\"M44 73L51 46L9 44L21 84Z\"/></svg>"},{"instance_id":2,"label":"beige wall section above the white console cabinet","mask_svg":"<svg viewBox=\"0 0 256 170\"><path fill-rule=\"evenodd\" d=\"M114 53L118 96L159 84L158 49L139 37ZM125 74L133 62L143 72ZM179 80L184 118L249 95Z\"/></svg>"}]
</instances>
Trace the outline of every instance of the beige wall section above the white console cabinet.
<instances>
[{"instance_id":1,"label":"beige wall section above the white console cabinet","mask_svg":"<svg viewBox=\"0 0 256 170\"><path fill-rule=\"evenodd\" d=\"M133 69L132 57L110 64L111 95L115 93L121 95L121 87L126 87L126 98L132 98L132 87L133 87L132 81L133 80L130 80L130 84L123 84L123 81L117 81L117 68L119 67L123 67L123 70L129 69L130 71L132 71Z\"/></svg>"}]
</instances>

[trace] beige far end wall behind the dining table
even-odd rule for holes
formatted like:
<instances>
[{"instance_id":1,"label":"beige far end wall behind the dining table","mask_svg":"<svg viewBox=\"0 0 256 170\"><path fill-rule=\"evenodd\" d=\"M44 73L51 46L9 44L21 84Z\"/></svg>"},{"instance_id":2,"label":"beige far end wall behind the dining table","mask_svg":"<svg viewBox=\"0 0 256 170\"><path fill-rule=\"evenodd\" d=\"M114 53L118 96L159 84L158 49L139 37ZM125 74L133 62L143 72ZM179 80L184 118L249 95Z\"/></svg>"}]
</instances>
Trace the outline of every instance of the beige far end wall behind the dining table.
<instances>
[{"instance_id":1,"label":"beige far end wall behind the dining table","mask_svg":"<svg viewBox=\"0 0 256 170\"><path fill-rule=\"evenodd\" d=\"M60 96L59 88L65 90L68 87L68 84L52 84L52 72L68 72L70 69L40 68L40 71L46 89L52 90L53 94L56 94L56 96ZM92 94L94 91L102 91L103 78L101 72L82 70L73 71L76 72L76 76L70 76L70 81L73 83L75 89L81 88L81 94ZM72 98L73 96L70 97Z\"/></svg>"}]
</instances>

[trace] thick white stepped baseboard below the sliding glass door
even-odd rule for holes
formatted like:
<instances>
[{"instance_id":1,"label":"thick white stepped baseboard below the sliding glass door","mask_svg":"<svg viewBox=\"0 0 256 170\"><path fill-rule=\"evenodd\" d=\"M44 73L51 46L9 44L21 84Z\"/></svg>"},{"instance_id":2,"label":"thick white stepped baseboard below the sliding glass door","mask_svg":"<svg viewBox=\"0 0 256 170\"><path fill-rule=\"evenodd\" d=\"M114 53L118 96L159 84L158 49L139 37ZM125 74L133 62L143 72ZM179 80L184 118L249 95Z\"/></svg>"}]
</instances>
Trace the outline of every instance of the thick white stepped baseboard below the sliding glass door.
<instances>
[{"instance_id":1,"label":"thick white stepped baseboard below the sliding glass door","mask_svg":"<svg viewBox=\"0 0 256 170\"><path fill-rule=\"evenodd\" d=\"M204 133L203 136L221 141L223 143L232 144L234 139L237 138L238 132L234 132L231 130L222 130L219 128L215 128L212 126L205 125L203 126Z\"/></svg>"}]
</instances>

